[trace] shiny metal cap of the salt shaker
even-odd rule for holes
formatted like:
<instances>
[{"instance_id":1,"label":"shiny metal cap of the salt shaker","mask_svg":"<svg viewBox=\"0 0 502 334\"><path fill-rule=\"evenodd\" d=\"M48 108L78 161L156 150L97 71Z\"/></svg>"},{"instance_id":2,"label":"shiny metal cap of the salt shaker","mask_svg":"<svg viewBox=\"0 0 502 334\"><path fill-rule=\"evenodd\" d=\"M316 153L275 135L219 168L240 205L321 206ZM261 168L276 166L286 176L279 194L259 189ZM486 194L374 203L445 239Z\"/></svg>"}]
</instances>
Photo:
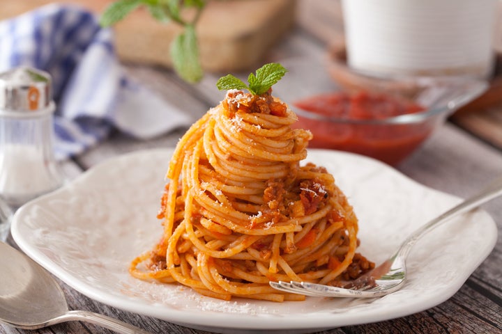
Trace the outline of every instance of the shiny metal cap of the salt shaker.
<instances>
[{"instance_id":1,"label":"shiny metal cap of the salt shaker","mask_svg":"<svg viewBox=\"0 0 502 334\"><path fill-rule=\"evenodd\" d=\"M26 117L52 112L52 79L47 72L21 66L0 74L0 113Z\"/></svg>"}]
</instances>

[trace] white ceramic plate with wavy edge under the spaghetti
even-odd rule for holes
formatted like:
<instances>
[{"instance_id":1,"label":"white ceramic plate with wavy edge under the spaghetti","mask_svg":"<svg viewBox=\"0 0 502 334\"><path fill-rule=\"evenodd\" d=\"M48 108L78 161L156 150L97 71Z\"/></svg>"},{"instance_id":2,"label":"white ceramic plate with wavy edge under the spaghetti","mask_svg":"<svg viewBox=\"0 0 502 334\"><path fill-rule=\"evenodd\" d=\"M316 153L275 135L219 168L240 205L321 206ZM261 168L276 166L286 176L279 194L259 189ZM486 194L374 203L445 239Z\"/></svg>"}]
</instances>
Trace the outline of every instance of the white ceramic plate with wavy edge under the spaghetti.
<instances>
[{"instance_id":1,"label":"white ceramic plate with wavy edge under the spaghetti","mask_svg":"<svg viewBox=\"0 0 502 334\"><path fill-rule=\"evenodd\" d=\"M420 312L455 294L496 242L496 225L485 212L452 220L416 244L406 285L380 299L220 301L180 285L144 282L128 274L128 265L160 238L155 215L171 154L149 150L110 159L59 191L29 202L13 219L15 241L33 260L92 299L219 333L307 333ZM335 175L360 220L359 250L377 263L406 234L459 202L366 157L311 150L307 161Z\"/></svg>"}]
</instances>

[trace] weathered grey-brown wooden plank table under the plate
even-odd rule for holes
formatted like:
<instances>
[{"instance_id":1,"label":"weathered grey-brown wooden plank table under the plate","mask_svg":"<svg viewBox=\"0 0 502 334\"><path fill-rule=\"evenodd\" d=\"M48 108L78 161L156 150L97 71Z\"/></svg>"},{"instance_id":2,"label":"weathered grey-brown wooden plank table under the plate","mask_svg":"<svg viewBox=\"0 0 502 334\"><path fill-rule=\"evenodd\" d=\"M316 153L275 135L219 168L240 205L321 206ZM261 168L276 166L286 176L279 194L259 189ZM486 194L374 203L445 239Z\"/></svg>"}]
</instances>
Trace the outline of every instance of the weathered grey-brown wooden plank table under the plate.
<instances>
[{"instance_id":1,"label":"weathered grey-brown wooden plank table under the plate","mask_svg":"<svg viewBox=\"0 0 502 334\"><path fill-rule=\"evenodd\" d=\"M303 71L312 78L309 67L323 71L326 66L326 46L343 38L343 24L337 1L302 0L298 3L298 19L294 29L268 52L264 62L280 61ZM209 107L222 100L215 88L220 74L206 74L195 86L185 84L171 71L147 65L126 65L131 77L160 93L195 120ZM313 80L314 82L316 80ZM310 81L309 81L310 82ZM313 89L335 88L335 83L319 80ZM312 89L312 88L311 88ZM291 97L293 98L293 97ZM287 99L287 97L284 97ZM502 109L502 108L501 108ZM501 109L491 108L490 113ZM485 111L479 110L478 117ZM483 138L482 132L467 132L459 122L448 122L397 170L426 186L469 196L478 186L502 175L502 148ZM185 129L165 134L151 141L137 141L114 132L104 143L75 159L65 161L66 171L73 176L118 154L145 148L165 148L176 144ZM502 127L499 127L502 133ZM502 200L494 200L483 208L502 230ZM502 234L500 234L502 235ZM471 275L469 280L448 301L408 317L377 324L347 326L322 333L502 333L502 242L499 235L495 249ZM10 240L12 242L12 240ZM1 283L0 283L1 284ZM142 317L98 303L61 283L70 309L91 310L140 326L152 333L204 333L166 321ZM111 333L103 328L79 322L59 324L39 331L21 331L0 326L0 333Z\"/></svg>"}]
</instances>

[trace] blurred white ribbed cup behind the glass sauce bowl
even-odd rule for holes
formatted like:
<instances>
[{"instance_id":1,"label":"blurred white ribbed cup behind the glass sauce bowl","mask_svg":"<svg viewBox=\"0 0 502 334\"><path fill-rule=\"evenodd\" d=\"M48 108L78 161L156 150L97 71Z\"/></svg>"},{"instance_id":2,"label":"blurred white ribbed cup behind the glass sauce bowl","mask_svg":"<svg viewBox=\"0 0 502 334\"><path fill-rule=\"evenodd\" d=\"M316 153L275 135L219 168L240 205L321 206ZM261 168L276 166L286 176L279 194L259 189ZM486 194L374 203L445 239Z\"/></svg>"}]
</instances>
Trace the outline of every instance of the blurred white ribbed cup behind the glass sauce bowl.
<instances>
[{"instance_id":1,"label":"blurred white ribbed cup behind the glass sauce bowl","mask_svg":"<svg viewBox=\"0 0 502 334\"><path fill-rule=\"evenodd\" d=\"M496 0L342 0L347 62L378 77L487 78L496 10Z\"/></svg>"}]
</instances>

